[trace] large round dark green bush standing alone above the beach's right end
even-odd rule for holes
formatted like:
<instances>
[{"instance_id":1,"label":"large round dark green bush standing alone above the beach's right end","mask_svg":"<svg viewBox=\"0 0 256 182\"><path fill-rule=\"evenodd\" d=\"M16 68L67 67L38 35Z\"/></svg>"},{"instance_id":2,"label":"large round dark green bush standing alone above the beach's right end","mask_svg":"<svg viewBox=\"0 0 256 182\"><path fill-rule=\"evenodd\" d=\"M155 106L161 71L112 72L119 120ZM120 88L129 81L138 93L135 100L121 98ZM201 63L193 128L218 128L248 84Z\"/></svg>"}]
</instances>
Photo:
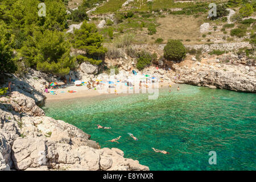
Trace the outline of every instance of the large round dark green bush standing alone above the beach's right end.
<instances>
[{"instance_id":1,"label":"large round dark green bush standing alone above the beach's right end","mask_svg":"<svg viewBox=\"0 0 256 182\"><path fill-rule=\"evenodd\" d=\"M164 58L170 61L180 61L185 55L186 49L179 40L168 40L164 47Z\"/></svg>"}]
</instances>

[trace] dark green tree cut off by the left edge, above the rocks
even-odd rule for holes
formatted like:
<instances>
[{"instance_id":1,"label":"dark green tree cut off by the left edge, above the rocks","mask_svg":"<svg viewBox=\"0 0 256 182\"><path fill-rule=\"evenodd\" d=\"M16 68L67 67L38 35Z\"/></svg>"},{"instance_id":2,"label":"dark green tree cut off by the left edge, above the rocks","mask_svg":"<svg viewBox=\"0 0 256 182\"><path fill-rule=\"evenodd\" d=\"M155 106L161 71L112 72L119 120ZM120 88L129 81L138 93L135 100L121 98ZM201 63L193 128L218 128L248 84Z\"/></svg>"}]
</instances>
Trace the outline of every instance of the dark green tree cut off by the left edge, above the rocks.
<instances>
[{"instance_id":1,"label":"dark green tree cut off by the left edge, above the rocks","mask_svg":"<svg viewBox=\"0 0 256 182\"><path fill-rule=\"evenodd\" d=\"M13 60L13 44L14 36L9 33L5 22L0 20L0 75L2 73L14 73L16 65Z\"/></svg>"}]
</instances>

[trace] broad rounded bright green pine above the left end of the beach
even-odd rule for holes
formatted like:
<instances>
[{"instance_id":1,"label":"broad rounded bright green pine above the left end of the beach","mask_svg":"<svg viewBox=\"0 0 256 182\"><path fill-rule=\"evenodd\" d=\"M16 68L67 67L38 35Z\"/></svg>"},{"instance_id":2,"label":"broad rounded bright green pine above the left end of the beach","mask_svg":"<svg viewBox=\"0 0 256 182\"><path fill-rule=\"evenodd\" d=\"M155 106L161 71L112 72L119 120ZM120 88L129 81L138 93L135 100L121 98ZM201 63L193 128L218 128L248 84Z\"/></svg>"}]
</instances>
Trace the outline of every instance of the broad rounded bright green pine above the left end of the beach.
<instances>
[{"instance_id":1,"label":"broad rounded bright green pine above the left end of the beach","mask_svg":"<svg viewBox=\"0 0 256 182\"><path fill-rule=\"evenodd\" d=\"M20 53L28 67L63 76L75 66L75 60L69 56L70 48L63 32L46 30L29 36Z\"/></svg>"}]
</instances>

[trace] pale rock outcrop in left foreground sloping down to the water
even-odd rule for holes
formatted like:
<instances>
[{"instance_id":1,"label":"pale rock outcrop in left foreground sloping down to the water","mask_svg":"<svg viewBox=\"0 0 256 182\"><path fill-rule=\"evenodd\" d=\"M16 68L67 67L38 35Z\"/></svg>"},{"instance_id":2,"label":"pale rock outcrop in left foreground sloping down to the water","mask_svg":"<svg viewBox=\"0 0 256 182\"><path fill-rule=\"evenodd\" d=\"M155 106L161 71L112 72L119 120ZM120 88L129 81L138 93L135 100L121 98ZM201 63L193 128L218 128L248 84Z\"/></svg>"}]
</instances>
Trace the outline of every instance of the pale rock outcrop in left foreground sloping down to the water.
<instances>
[{"instance_id":1,"label":"pale rock outcrop in left foreground sloping down to the water","mask_svg":"<svg viewBox=\"0 0 256 182\"><path fill-rule=\"evenodd\" d=\"M118 148L100 148L77 127L46 117L35 102L44 99L44 76L27 82L13 77L16 91L0 97L0 170L149 170Z\"/></svg>"}]
</instances>

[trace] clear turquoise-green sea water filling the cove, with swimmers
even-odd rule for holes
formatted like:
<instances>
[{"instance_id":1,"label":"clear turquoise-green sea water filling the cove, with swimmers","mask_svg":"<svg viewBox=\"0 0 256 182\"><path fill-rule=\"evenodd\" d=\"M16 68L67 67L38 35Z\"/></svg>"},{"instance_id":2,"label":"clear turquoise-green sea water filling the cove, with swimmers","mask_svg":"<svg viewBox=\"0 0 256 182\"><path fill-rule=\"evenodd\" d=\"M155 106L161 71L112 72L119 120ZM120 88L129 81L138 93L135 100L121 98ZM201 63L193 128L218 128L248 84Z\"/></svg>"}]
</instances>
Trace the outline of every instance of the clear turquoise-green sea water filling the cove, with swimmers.
<instances>
[{"instance_id":1,"label":"clear turquoise-green sea water filling the cove, with swimmers","mask_svg":"<svg viewBox=\"0 0 256 182\"><path fill-rule=\"evenodd\" d=\"M171 93L160 89L157 100L109 95L50 102L43 109L92 135L101 148L120 148L150 170L255 170L256 95L179 86ZM97 124L112 129L96 129ZM119 144L106 142L119 135ZM209 151L216 151L216 165L208 163Z\"/></svg>"}]
</instances>

